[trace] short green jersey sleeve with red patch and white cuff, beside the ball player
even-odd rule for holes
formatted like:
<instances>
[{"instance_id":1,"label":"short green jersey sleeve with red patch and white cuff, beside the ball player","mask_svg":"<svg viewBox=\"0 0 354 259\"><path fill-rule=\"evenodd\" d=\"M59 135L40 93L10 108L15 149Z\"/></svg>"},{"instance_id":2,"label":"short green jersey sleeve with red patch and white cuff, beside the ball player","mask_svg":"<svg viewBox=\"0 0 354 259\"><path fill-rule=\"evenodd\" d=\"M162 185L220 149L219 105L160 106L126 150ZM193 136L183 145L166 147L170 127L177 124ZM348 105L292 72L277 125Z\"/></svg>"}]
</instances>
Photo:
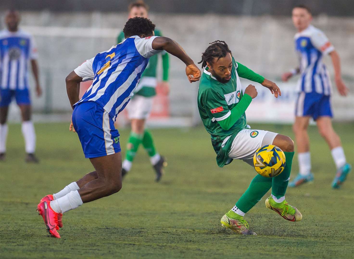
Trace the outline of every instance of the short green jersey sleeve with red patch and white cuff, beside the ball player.
<instances>
[{"instance_id":1,"label":"short green jersey sleeve with red patch and white cuff, beside the ball player","mask_svg":"<svg viewBox=\"0 0 354 259\"><path fill-rule=\"evenodd\" d=\"M212 121L222 121L231 115L225 98L212 88L205 92L204 108Z\"/></svg>"}]
</instances>

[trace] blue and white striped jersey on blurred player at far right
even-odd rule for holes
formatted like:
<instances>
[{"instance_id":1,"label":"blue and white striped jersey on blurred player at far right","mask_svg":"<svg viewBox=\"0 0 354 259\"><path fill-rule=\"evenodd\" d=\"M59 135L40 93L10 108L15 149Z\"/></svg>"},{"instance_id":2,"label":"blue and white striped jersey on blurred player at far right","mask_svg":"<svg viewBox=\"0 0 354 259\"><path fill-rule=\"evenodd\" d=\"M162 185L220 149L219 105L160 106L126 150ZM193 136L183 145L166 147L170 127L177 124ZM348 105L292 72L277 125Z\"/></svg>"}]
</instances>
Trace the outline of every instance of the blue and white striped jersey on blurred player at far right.
<instances>
[{"instance_id":1,"label":"blue and white striped jersey on blurred player at far right","mask_svg":"<svg viewBox=\"0 0 354 259\"><path fill-rule=\"evenodd\" d=\"M310 25L305 30L295 34L295 50L300 61L301 77L298 81L299 92L316 92L331 94L331 81L323 55L329 54L334 47L326 35Z\"/></svg>"}]
</instances>

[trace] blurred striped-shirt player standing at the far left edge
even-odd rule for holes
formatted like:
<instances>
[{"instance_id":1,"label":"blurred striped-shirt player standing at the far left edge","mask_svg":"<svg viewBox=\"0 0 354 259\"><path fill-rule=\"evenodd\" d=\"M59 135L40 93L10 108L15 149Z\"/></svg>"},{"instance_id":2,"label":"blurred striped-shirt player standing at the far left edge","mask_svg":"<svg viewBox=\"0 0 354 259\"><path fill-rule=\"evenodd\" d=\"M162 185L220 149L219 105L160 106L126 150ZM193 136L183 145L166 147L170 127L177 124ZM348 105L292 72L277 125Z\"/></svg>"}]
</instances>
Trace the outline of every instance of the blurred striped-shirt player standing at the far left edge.
<instances>
[{"instance_id":1,"label":"blurred striped-shirt player standing at the far left edge","mask_svg":"<svg viewBox=\"0 0 354 259\"><path fill-rule=\"evenodd\" d=\"M7 29L0 32L0 161L5 160L8 106L12 98L21 110L22 133L25 141L26 162L38 162L34 155L36 134L31 121L31 102L28 85L28 63L30 61L36 83L37 96L42 90L39 84L37 49L30 34L18 29L18 11L5 15Z\"/></svg>"}]
</instances>

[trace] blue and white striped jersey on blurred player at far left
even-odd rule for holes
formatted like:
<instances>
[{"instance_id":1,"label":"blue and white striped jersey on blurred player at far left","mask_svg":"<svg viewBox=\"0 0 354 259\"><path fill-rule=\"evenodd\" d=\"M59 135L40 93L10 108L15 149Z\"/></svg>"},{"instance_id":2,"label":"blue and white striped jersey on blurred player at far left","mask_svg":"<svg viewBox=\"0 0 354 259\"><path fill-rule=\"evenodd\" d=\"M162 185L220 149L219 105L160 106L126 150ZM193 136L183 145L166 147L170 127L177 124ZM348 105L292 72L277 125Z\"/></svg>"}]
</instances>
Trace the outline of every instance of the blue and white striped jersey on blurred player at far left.
<instances>
[{"instance_id":1,"label":"blue and white striped jersey on blurred player at far left","mask_svg":"<svg viewBox=\"0 0 354 259\"><path fill-rule=\"evenodd\" d=\"M28 61L37 59L33 38L18 30L0 31L0 88L28 88Z\"/></svg>"}]
</instances>

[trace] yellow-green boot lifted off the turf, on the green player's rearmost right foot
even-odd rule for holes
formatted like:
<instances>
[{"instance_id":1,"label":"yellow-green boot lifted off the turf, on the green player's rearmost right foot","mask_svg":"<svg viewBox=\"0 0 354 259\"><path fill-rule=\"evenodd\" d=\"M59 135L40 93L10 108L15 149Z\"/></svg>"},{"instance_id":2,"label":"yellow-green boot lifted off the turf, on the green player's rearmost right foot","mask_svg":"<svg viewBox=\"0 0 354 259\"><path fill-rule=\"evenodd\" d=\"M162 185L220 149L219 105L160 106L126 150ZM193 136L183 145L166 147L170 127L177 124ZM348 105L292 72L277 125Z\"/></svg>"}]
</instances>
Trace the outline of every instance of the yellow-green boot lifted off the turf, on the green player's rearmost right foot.
<instances>
[{"instance_id":1,"label":"yellow-green boot lifted off the turf, on the green player's rearmost right foot","mask_svg":"<svg viewBox=\"0 0 354 259\"><path fill-rule=\"evenodd\" d=\"M281 203L276 203L272 197L269 197L265 200L265 206L268 209L274 210L288 221L295 222L301 221L302 219L301 212L296 209L296 207L289 205L286 200L282 201Z\"/></svg>"}]
</instances>

